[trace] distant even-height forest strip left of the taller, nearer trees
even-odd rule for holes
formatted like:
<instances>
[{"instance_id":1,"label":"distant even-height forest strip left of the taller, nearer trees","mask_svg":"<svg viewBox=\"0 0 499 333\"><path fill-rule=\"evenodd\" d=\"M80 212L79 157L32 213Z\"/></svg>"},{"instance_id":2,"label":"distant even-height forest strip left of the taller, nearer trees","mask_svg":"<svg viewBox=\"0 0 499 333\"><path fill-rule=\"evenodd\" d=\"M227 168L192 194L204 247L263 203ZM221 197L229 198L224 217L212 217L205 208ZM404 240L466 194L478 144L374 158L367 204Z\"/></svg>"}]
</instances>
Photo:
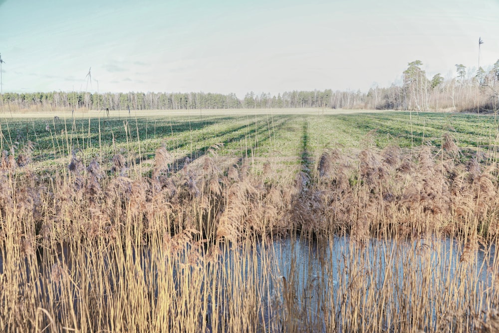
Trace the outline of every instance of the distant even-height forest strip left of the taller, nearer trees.
<instances>
[{"instance_id":1,"label":"distant even-height forest strip left of the taller, nearer trees","mask_svg":"<svg viewBox=\"0 0 499 333\"><path fill-rule=\"evenodd\" d=\"M348 108L361 104L366 94L357 92L291 91L271 95L253 92L243 99L236 94L204 92L127 92L127 93L90 93L90 92L33 92L1 95L4 104L9 103L18 109L35 107L52 109L109 109L109 110L187 110L187 109L240 109L240 108Z\"/></svg>"}]
</instances>

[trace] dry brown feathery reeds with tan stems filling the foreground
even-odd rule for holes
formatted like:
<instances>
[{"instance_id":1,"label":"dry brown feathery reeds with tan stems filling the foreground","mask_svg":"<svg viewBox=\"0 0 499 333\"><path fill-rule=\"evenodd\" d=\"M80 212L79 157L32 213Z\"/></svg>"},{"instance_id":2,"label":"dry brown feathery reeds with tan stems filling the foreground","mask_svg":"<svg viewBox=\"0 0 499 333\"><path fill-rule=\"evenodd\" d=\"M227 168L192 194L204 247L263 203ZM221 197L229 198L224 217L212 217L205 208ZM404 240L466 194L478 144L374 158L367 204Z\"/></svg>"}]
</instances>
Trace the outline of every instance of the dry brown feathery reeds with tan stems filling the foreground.
<instances>
[{"instance_id":1,"label":"dry brown feathery reeds with tan stems filling the foreground","mask_svg":"<svg viewBox=\"0 0 499 333\"><path fill-rule=\"evenodd\" d=\"M77 150L67 170L35 174L29 143L18 153L4 151L3 330L492 332L497 327L496 282L487 289L473 273L481 244L497 241L499 230L498 166L486 156L467 160L447 134L442 150L366 147L348 155L331 149L313 170L303 168L285 184L273 181L268 166L252 173L246 160L222 167L220 147L180 169L160 147L144 174L121 154L84 165ZM350 235L343 266L326 260L320 278L309 268L305 287L293 268L285 272L287 280L278 278L272 266L277 254L258 252L265 251L256 246L258 239L265 244L296 231L323 249L334 235ZM460 272L435 287L432 277L439 275L432 270L439 271L439 279L448 273L430 265L434 259L425 249L436 249L444 262L445 253L431 241L443 234L463 243ZM392 251L384 255L387 266L364 267L372 258L362 251L373 237L420 246L407 250L405 259L387 247ZM487 249L495 258L492 247ZM408 258L423 264L413 267ZM268 274L257 274L256 267ZM413 275L401 291L394 273L399 269ZM489 269L499 276L496 260ZM386 275L383 284L375 281L374 270ZM335 271L339 281L333 281ZM334 298L326 293L333 288ZM438 299L428 306L423 295ZM312 296L322 316L311 314Z\"/></svg>"}]
</instances>

